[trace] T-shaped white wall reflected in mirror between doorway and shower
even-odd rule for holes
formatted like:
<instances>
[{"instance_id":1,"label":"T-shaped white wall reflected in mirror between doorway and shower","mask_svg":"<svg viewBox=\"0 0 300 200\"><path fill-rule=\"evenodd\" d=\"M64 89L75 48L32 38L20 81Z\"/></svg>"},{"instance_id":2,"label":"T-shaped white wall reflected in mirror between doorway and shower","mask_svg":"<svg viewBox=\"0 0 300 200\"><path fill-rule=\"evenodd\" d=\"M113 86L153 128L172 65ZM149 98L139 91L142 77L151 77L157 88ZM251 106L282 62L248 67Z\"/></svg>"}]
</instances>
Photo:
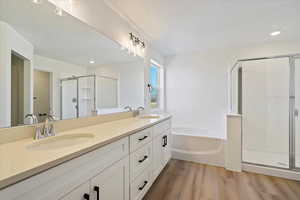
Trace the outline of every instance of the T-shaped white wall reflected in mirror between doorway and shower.
<instances>
[{"instance_id":1,"label":"T-shaped white wall reflected in mirror between doorway and shower","mask_svg":"<svg viewBox=\"0 0 300 200\"><path fill-rule=\"evenodd\" d=\"M60 79L71 76L82 76L87 74L84 66L34 55L34 69L51 72L52 75L52 99L50 102L51 110L55 116L60 116ZM68 95L68 94L66 94Z\"/></svg>"}]
</instances>

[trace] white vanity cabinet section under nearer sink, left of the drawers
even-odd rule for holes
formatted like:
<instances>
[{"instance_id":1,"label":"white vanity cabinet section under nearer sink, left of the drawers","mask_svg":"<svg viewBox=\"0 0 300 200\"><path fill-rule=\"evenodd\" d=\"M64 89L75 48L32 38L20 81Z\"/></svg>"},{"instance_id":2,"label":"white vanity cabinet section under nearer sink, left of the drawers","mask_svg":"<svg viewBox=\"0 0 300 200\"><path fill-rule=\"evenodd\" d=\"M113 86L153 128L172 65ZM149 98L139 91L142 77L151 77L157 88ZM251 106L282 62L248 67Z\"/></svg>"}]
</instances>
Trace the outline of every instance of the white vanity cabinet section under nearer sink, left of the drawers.
<instances>
[{"instance_id":1,"label":"white vanity cabinet section under nearer sink, left of the drawers","mask_svg":"<svg viewBox=\"0 0 300 200\"><path fill-rule=\"evenodd\" d=\"M121 174L121 176L119 176ZM5 200L84 200L87 193L92 199L93 186L100 179L112 182L97 183L103 194L110 193L110 185L118 185L128 200L129 194L129 140L128 137L81 155L24 181L0 190L0 199ZM93 183L93 185L92 185ZM120 186L119 184L122 184ZM87 187L87 185L89 185ZM88 188L88 189L87 189ZM125 189L124 189L125 188ZM127 195L127 199L126 199ZM119 200L119 199L115 199ZM120 199L121 200L121 199Z\"/></svg>"}]
</instances>

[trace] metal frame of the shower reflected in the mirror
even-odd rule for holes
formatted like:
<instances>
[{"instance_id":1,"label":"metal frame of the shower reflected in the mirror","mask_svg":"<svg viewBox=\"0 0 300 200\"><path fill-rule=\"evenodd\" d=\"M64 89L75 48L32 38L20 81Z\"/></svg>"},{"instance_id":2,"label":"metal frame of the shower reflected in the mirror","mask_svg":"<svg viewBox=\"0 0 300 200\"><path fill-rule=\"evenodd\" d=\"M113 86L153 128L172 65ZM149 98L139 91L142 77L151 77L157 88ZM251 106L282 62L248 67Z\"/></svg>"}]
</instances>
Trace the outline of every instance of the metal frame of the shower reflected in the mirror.
<instances>
[{"instance_id":1,"label":"metal frame of the shower reflected in the mirror","mask_svg":"<svg viewBox=\"0 0 300 200\"><path fill-rule=\"evenodd\" d=\"M85 75L85 76L72 76L72 77L68 77L68 78L63 78L60 79L60 119L62 119L63 113L63 99L62 99L62 83L64 81L71 81L71 80L75 80L76 81L76 87L77 87L77 102L76 102L76 118L79 118L79 79L81 78L94 78L93 80L93 86L94 86L94 97L93 97L93 101L94 101L94 105L93 105L93 111L96 111L96 75L92 74L92 75Z\"/></svg>"}]
</instances>

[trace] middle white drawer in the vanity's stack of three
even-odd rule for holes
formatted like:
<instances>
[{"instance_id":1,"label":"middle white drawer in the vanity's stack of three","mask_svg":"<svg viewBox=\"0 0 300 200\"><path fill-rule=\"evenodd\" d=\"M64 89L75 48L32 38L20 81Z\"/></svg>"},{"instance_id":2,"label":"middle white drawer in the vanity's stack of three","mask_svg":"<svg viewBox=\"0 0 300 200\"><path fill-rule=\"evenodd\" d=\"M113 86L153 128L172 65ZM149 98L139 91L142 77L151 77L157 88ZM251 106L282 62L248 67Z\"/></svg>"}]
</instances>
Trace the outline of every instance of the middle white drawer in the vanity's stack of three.
<instances>
[{"instance_id":1,"label":"middle white drawer in the vanity's stack of three","mask_svg":"<svg viewBox=\"0 0 300 200\"><path fill-rule=\"evenodd\" d=\"M153 146L148 143L146 146L130 154L130 181L133 181L139 174L152 165Z\"/></svg>"}]
</instances>

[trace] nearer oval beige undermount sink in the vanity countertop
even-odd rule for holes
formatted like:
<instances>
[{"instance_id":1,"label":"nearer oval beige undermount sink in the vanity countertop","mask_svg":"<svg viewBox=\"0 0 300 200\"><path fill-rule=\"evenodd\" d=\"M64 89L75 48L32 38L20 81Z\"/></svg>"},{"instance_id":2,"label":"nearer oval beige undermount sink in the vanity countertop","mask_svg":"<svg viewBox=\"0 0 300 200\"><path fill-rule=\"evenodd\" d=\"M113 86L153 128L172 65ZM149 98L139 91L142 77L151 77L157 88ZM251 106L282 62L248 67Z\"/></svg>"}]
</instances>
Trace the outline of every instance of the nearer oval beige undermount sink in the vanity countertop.
<instances>
[{"instance_id":1,"label":"nearer oval beige undermount sink in the vanity countertop","mask_svg":"<svg viewBox=\"0 0 300 200\"><path fill-rule=\"evenodd\" d=\"M30 150L50 150L82 144L93 139L90 133L76 133L44 138L27 146Z\"/></svg>"}]
</instances>

